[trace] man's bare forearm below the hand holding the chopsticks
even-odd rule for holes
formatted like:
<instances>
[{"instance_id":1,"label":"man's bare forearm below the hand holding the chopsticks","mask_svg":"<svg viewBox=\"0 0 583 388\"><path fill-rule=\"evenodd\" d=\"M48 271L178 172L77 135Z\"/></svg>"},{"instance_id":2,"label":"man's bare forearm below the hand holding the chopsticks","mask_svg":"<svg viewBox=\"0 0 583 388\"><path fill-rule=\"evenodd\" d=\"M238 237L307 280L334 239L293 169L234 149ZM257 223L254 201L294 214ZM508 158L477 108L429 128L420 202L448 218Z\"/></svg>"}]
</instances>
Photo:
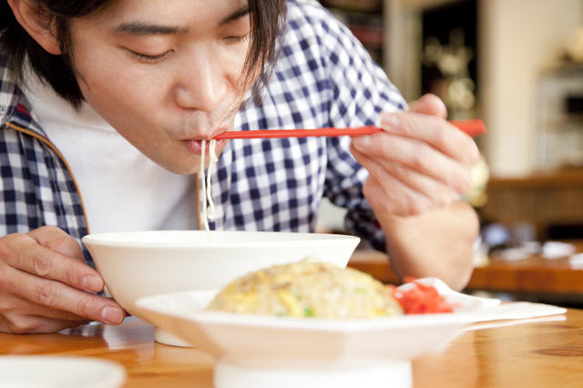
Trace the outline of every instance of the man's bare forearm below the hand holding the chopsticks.
<instances>
[{"instance_id":1,"label":"man's bare forearm below the hand holding the chopsticks","mask_svg":"<svg viewBox=\"0 0 583 388\"><path fill-rule=\"evenodd\" d=\"M395 273L403 278L437 277L462 290L473 270L473 244L479 231L476 212L456 201L421 215L377 217L387 239Z\"/></svg>"}]
</instances>

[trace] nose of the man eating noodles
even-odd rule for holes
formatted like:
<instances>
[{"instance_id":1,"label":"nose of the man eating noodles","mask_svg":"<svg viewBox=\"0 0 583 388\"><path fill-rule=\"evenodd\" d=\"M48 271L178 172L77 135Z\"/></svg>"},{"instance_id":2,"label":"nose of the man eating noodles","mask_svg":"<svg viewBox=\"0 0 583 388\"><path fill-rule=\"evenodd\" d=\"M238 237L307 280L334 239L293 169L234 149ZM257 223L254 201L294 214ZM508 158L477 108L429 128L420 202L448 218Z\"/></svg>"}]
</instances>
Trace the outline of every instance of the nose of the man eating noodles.
<instances>
[{"instance_id":1,"label":"nose of the man eating noodles","mask_svg":"<svg viewBox=\"0 0 583 388\"><path fill-rule=\"evenodd\" d=\"M229 77L218 58L199 50L183 66L173 91L179 107L205 112L219 107L227 96Z\"/></svg>"}]
</instances>

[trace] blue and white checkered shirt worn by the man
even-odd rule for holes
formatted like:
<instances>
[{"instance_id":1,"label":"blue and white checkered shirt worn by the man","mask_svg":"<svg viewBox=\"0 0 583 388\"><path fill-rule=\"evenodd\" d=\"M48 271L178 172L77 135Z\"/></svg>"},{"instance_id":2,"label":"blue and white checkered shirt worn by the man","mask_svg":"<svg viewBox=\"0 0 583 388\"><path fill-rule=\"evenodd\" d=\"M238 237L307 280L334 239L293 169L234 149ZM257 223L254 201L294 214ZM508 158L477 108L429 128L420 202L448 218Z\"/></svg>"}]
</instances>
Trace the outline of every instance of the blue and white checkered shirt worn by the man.
<instances>
[{"instance_id":1,"label":"blue and white checkered shirt worn by the man","mask_svg":"<svg viewBox=\"0 0 583 388\"><path fill-rule=\"evenodd\" d=\"M361 127L405 102L349 30L311 0L288 2L288 28L260 107L235 130ZM28 114L0 60L0 235L54 225L80 241L87 221L66 162ZM216 230L313 231L322 197L377 249L384 233L363 198L368 172L350 138L231 140L213 171ZM200 198L202 196L199 196ZM201 217L201 216L200 216Z\"/></svg>"}]
</instances>

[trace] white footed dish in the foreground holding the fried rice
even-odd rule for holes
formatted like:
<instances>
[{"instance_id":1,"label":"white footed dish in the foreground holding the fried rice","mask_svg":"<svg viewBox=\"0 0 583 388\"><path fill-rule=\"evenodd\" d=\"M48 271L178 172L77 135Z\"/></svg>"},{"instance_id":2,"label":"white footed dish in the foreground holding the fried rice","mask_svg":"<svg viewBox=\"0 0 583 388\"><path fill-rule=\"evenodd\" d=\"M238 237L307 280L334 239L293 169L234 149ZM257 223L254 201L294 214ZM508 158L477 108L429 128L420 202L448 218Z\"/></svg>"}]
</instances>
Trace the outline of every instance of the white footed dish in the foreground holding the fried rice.
<instances>
[{"instance_id":1,"label":"white footed dish in the foreground holding the fried rice","mask_svg":"<svg viewBox=\"0 0 583 388\"><path fill-rule=\"evenodd\" d=\"M203 311L216 291L139 299L149 322L217 358L216 388L411 387L411 361L450 341L486 300L434 284L455 313L359 321L294 319ZM406 287L406 285L404 286Z\"/></svg>"}]
</instances>

